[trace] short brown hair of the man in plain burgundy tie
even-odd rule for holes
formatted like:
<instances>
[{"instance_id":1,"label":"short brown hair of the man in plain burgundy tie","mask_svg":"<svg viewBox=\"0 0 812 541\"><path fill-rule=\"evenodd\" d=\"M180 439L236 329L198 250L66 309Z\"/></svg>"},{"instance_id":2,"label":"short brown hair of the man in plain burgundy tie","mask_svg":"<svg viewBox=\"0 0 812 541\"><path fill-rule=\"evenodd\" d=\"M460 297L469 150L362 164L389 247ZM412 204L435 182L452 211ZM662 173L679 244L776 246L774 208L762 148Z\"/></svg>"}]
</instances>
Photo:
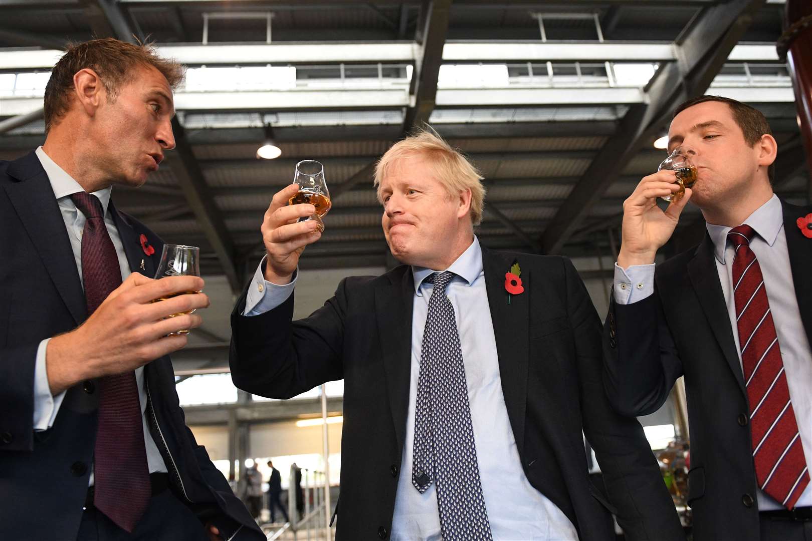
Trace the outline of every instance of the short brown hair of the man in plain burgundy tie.
<instances>
[{"instance_id":1,"label":"short brown hair of the man in plain burgundy tie","mask_svg":"<svg viewBox=\"0 0 812 541\"><path fill-rule=\"evenodd\" d=\"M77 71L84 68L95 71L112 103L122 84L132 79L136 67L154 67L173 89L184 79L184 68L174 60L158 56L149 44L132 44L111 37L69 44L45 86L45 132L70 108L73 75Z\"/></svg>"}]
</instances>

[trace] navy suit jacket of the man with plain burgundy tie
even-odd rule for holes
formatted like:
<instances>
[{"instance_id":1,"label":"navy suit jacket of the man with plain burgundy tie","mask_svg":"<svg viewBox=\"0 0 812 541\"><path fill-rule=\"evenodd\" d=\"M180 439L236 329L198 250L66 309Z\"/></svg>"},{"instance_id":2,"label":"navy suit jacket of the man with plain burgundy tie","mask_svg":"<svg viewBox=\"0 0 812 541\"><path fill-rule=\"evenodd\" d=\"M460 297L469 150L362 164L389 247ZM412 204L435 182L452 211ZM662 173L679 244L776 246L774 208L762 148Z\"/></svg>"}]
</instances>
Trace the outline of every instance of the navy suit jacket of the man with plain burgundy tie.
<instances>
[{"instance_id":1,"label":"navy suit jacket of the man with plain burgundy tie","mask_svg":"<svg viewBox=\"0 0 812 541\"><path fill-rule=\"evenodd\" d=\"M112 202L110 210L130 268L153 276L161 240ZM140 234L153 255L145 255ZM71 387L54 426L33 431L37 346L87 318L65 223L34 152L0 161L0 258L0 539L72 541L93 464L98 398L93 381ZM149 429L180 500L224 539L265 539L186 427L169 357L146 365L145 385Z\"/></svg>"}]
</instances>

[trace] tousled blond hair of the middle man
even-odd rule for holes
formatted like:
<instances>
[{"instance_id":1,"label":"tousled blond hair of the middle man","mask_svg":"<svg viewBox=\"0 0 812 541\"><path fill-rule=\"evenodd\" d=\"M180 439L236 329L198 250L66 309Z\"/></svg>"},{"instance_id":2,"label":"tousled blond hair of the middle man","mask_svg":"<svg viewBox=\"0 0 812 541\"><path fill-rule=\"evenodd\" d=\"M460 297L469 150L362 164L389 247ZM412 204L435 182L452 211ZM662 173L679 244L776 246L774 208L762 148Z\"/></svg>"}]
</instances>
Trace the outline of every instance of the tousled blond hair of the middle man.
<instances>
[{"instance_id":1,"label":"tousled blond hair of the middle man","mask_svg":"<svg viewBox=\"0 0 812 541\"><path fill-rule=\"evenodd\" d=\"M471 191L471 222L482 223L482 208L485 205L485 187L482 174L456 148L451 148L428 124L406 139L393 144L375 165L375 187L378 188L378 201L381 198L381 181L389 174L398 161L406 157L420 156L434 170L437 180L451 197L461 191Z\"/></svg>"}]
</instances>

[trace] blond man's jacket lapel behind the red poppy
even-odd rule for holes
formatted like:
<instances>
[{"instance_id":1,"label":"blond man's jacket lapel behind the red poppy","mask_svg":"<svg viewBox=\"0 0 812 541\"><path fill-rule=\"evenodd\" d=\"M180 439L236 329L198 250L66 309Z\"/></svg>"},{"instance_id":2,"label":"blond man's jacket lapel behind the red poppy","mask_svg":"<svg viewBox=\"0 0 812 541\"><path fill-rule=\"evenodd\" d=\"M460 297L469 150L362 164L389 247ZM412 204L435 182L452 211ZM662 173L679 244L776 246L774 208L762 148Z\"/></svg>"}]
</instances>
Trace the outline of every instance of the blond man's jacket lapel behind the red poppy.
<instances>
[{"instance_id":1,"label":"blond man's jacket lapel behind the red poppy","mask_svg":"<svg viewBox=\"0 0 812 541\"><path fill-rule=\"evenodd\" d=\"M525 409L527 404L527 367L529 357L530 297L533 294L530 266L521 271L525 292L508 295L505 290L505 273L510 272L516 258L513 255L482 248L482 268L490 307L490 319L494 326L496 352L499 356L499 378L508 408L508 419L513 428L516 448L524 453ZM519 260L522 266L522 261ZM508 297L510 303L508 304Z\"/></svg>"}]
</instances>

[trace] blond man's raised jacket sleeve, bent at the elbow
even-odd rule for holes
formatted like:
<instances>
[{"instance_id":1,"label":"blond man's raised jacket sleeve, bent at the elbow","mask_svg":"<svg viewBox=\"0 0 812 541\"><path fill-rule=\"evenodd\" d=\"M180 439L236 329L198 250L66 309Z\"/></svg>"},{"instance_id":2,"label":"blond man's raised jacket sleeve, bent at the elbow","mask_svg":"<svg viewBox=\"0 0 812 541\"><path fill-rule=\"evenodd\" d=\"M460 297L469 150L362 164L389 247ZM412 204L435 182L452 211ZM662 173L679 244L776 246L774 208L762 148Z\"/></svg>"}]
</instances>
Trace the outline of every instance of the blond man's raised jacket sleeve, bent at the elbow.
<instances>
[{"instance_id":1,"label":"blond man's raised jacket sleeve, bent at the elbow","mask_svg":"<svg viewBox=\"0 0 812 541\"><path fill-rule=\"evenodd\" d=\"M292 321L292 294L259 316L243 316L246 289L231 313L231 379L245 391L291 398L326 381L343 378L347 283L304 320Z\"/></svg>"}]
</instances>

